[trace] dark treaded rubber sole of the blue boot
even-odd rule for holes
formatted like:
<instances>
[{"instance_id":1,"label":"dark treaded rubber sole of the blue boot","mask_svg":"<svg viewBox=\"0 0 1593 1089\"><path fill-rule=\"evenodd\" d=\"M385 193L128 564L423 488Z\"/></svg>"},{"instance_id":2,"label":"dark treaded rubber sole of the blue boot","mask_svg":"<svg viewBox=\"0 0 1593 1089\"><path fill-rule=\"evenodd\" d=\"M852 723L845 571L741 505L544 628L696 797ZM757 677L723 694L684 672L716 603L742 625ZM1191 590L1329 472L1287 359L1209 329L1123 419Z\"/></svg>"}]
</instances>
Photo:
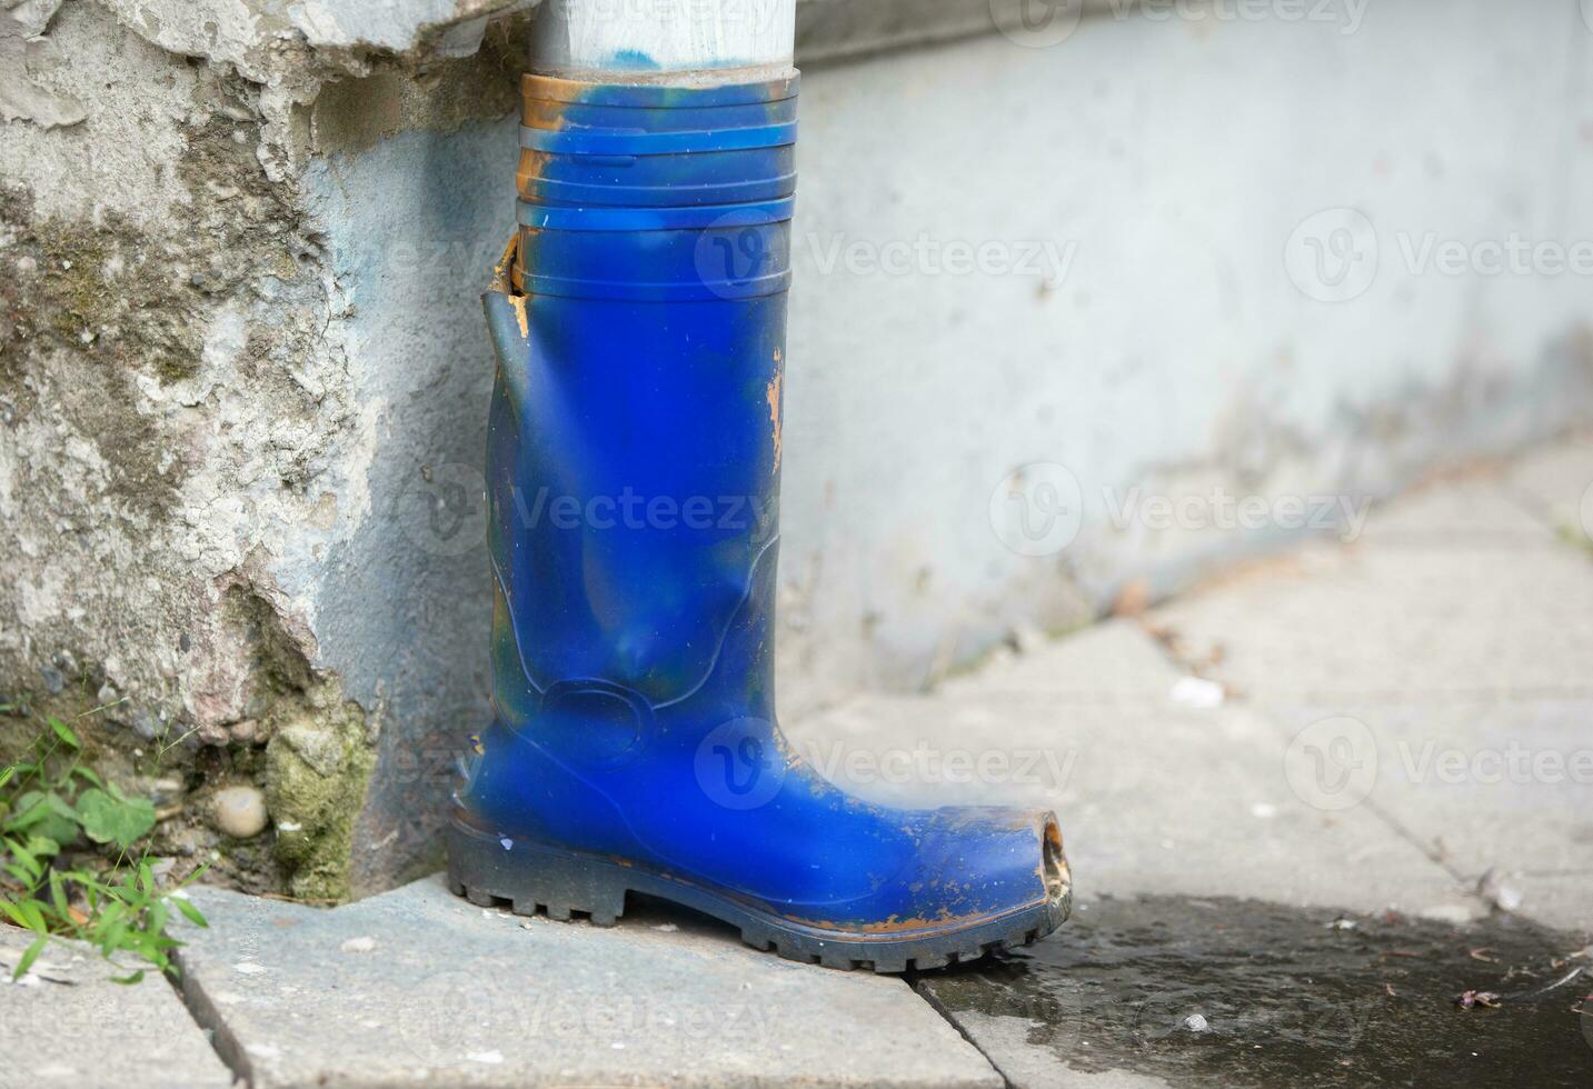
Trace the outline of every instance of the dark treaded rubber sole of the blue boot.
<instances>
[{"instance_id":1,"label":"dark treaded rubber sole of the blue boot","mask_svg":"<svg viewBox=\"0 0 1593 1089\"><path fill-rule=\"evenodd\" d=\"M795 923L733 893L639 865L492 836L457 820L448 825L448 884L456 895L481 908L508 906L516 915L543 911L548 919L559 920L585 917L597 927L615 925L624 915L626 895L642 893L726 922L741 931L746 944L774 950L787 960L892 974L945 968L1027 946L1056 930L1072 903L1067 888L1042 903L945 928L846 933Z\"/></svg>"}]
</instances>

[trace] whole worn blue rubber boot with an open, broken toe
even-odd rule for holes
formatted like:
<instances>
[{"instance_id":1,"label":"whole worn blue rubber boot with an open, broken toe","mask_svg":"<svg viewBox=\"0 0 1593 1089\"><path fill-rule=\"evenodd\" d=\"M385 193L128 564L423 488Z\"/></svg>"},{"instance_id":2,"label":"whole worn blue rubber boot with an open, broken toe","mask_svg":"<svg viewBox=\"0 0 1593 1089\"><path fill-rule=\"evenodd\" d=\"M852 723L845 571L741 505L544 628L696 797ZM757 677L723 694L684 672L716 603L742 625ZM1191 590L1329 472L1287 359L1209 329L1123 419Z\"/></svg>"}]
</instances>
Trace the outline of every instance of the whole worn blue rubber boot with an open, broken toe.
<instances>
[{"instance_id":1,"label":"whole worn blue rubber boot with an open, broken toe","mask_svg":"<svg viewBox=\"0 0 1593 1089\"><path fill-rule=\"evenodd\" d=\"M596 923L647 893L878 971L1050 933L1050 812L871 806L776 723L795 73L524 94L521 229L484 296L494 721L454 890Z\"/></svg>"}]
</instances>

